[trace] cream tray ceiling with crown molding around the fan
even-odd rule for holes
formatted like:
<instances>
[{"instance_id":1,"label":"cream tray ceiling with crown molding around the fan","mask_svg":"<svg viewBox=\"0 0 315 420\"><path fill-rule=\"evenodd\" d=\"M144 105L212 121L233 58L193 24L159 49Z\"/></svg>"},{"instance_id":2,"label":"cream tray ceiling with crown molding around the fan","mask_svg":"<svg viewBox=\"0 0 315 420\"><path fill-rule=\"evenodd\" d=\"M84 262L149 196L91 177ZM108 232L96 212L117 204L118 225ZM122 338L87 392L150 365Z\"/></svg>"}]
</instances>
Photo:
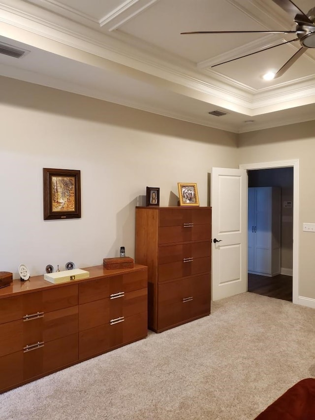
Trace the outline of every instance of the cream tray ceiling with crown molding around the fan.
<instances>
[{"instance_id":1,"label":"cream tray ceiling with crown molding around the fan","mask_svg":"<svg viewBox=\"0 0 315 420\"><path fill-rule=\"evenodd\" d=\"M294 34L180 34L294 30L272 0L3 0L0 11L0 42L29 52L0 54L0 75L233 132L314 119L315 49L268 82L299 42L233 60Z\"/></svg>"}]
</instances>

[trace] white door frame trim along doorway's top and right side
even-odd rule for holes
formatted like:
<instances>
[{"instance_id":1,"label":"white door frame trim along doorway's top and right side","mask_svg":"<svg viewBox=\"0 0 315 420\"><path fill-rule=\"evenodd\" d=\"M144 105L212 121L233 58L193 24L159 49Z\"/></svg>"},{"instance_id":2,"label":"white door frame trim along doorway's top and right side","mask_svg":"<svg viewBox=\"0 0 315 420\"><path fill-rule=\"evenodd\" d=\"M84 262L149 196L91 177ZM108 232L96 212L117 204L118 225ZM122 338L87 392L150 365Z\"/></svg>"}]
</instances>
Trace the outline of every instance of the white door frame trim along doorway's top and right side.
<instances>
[{"instance_id":1,"label":"white door frame trim along doorway's top and right side","mask_svg":"<svg viewBox=\"0 0 315 420\"><path fill-rule=\"evenodd\" d=\"M300 160L275 162L244 163L240 169L271 169L293 167L293 269L292 269L292 302L305 305L299 299L299 212L300 212ZM248 209L247 209L248 211Z\"/></svg>"}]
</instances>

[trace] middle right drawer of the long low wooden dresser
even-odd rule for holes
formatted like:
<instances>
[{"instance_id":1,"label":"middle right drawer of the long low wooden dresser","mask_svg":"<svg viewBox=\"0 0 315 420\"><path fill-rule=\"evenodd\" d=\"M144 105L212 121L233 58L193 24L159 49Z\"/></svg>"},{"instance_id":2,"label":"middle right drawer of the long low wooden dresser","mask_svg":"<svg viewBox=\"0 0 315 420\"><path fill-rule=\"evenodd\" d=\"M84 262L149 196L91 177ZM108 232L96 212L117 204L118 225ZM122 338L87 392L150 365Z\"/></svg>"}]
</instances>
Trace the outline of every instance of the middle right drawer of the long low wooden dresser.
<instances>
[{"instance_id":1,"label":"middle right drawer of the long low wooden dresser","mask_svg":"<svg viewBox=\"0 0 315 420\"><path fill-rule=\"evenodd\" d=\"M79 305L79 331L127 318L148 308L147 289L130 291L112 299L100 299Z\"/></svg>"}]
</instances>

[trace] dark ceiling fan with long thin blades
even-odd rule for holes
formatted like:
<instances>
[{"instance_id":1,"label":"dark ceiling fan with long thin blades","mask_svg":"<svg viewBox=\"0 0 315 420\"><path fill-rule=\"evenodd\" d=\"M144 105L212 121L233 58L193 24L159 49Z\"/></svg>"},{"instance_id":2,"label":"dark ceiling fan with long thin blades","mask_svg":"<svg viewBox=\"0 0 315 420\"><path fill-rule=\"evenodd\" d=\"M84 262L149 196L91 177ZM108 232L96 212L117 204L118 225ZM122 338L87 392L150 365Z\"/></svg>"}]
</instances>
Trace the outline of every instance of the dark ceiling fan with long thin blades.
<instances>
[{"instance_id":1,"label":"dark ceiling fan with long thin blades","mask_svg":"<svg viewBox=\"0 0 315 420\"><path fill-rule=\"evenodd\" d=\"M277 71L274 75L274 78L282 76L288 68L293 65L296 60L301 57L302 54L308 48L315 48L315 7L309 10L307 14L302 12L291 0L272 0L274 3L278 4L285 12L287 12L293 21L296 24L295 31L196 31L196 32L181 32L182 35L186 34L196 34L196 33L295 33L297 38L291 39L290 41L282 42L281 44L273 45L272 47L263 48L259 51L255 51L251 54L246 54L245 56L237 57L232 60L225 61L223 63L212 65L211 67L216 67L217 65L229 63L240 58L248 57L253 54L260 53L261 51L266 51L271 48L279 47L280 45L288 44L289 42L300 41L301 48Z\"/></svg>"}]
</instances>

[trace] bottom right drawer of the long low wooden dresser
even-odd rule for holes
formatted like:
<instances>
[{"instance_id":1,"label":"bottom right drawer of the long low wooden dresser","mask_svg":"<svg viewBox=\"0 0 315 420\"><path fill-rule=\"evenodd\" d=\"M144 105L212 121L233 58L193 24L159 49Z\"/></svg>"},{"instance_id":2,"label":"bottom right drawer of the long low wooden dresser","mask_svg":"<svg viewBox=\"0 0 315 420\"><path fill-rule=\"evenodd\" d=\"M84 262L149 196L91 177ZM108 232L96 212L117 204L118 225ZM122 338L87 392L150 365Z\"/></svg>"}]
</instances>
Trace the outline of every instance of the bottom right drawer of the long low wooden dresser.
<instances>
[{"instance_id":1,"label":"bottom right drawer of the long low wooden dresser","mask_svg":"<svg viewBox=\"0 0 315 420\"><path fill-rule=\"evenodd\" d=\"M103 324L79 332L79 359L84 360L115 347L146 337L147 312L125 318L124 321Z\"/></svg>"}]
</instances>

